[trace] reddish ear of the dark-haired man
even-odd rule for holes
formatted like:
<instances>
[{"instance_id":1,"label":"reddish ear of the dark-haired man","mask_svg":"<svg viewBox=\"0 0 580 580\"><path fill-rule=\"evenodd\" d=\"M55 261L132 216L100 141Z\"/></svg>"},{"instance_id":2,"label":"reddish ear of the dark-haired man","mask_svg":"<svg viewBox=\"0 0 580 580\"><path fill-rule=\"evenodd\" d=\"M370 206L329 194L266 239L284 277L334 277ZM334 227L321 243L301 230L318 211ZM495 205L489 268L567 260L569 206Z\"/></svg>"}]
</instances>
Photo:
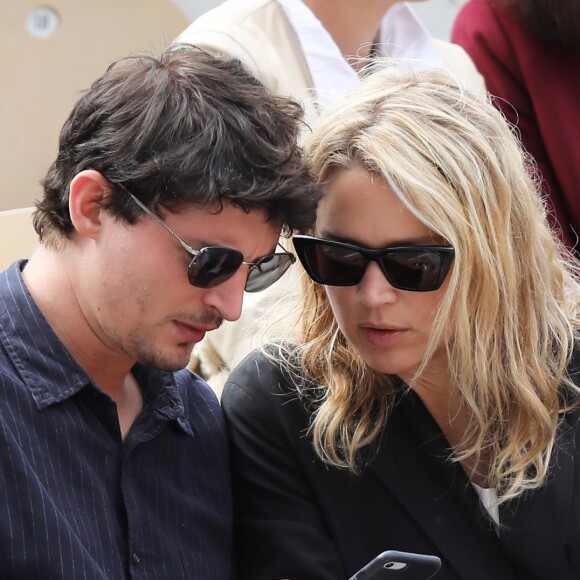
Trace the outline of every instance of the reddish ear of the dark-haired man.
<instances>
[{"instance_id":1,"label":"reddish ear of the dark-haired man","mask_svg":"<svg viewBox=\"0 0 580 580\"><path fill-rule=\"evenodd\" d=\"M75 230L82 236L95 237L101 229L103 201L112 193L109 181L98 171L77 173L70 184L69 212Z\"/></svg>"}]
</instances>

